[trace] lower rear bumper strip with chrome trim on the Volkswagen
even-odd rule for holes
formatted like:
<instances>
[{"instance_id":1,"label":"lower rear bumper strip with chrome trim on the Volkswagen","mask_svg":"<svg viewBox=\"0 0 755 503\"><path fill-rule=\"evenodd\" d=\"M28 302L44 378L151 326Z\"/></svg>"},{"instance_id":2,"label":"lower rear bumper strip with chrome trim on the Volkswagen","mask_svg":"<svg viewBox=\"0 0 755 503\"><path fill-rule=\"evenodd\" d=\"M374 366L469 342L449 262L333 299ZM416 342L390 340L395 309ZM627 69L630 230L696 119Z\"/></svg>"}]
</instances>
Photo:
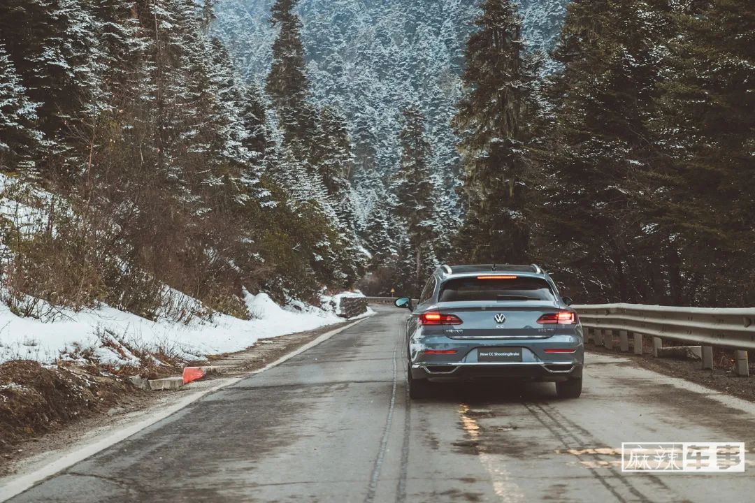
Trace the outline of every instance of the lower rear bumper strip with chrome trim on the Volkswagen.
<instances>
[{"instance_id":1,"label":"lower rear bumper strip with chrome trim on the Volkswagen","mask_svg":"<svg viewBox=\"0 0 755 503\"><path fill-rule=\"evenodd\" d=\"M559 382L582 376L582 365L573 362L517 363L413 363L412 379L431 382L464 382L482 379L522 379Z\"/></svg>"}]
</instances>

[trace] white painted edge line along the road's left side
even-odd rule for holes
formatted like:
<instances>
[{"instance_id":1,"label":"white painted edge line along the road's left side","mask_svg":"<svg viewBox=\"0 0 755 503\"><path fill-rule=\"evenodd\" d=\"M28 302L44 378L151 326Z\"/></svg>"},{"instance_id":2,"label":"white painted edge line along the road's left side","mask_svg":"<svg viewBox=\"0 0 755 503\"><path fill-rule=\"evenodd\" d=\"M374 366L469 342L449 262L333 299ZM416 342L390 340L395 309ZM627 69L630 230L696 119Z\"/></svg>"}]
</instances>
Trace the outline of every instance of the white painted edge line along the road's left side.
<instances>
[{"instance_id":1,"label":"white painted edge line along the road's left side","mask_svg":"<svg viewBox=\"0 0 755 503\"><path fill-rule=\"evenodd\" d=\"M12 480L10 483L7 483L5 486L0 487L0 503L2 503L2 501L8 501L14 496L20 495L22 492L25 492L26 490L31 489L37 483L40 483L43 480L54 476L58 472L63 471L66 468L69 468L72 465L75 465L76 463L82 462L85 459L91 457L92 455L97 454L97 452L103 451L104 449L107 449L108 447L113 446L116 443L121 442L122 440L126 440L128 437L131 437L131 435L139 433L144 428L148 428L149 426L154 425L156 422L162 421L168 416L171 416L172 414L177 413L180 409L183 409L186 406L189 406L191 403L196 402L196 400L199 400L200 398L204 397L206 394L210 394L210 393L213 393L214 391L227 388L230 385L235 385L237 382L240 382L243 379L247 379L248 377L254 376L259 373L263 373L265 370L272 369L273 367L277 367L281 363L284 363L286 360L290 360L291 358L304 353L304 351L307 351L308 349L311 349L315 347L316 345L319 345L320 343L327 341L332 336L335 336L338 333L341 333L344 330L347 330L356 324L362 323L362 321L365 321L370 316L371 314L369 314L368 316L362 317L359 320L354 321L353 323L348 324L346 327L341 327L336 330L331 330L330 332L323 333L322 336L319 336L317 339L307 342L307 344L301 346L296 351L292 351L291 353L285 354L284 356L280 357L278 360L275 360L272 363L268 363L266 366L262 367L261 369L254 370L253 372L245 374L244 376L241 376L241 377L235 377L233 379L226 379L220 385L213 386L212 388L196 391L195 393L190 394L188 397L183 398L183 400L180 400L177 403L174 403L173 405L168 406L167 408L163 409L161 412L159 412L155 416L149 416L149 418L143 421L137 422L134 425L128 426L127 428L124 428L120 431L116 431L115 433L108 435L102 440L99 440L97 443L93 443L91 445L82 447L82 449L78 449L78 450L75 450L74 452L70 452L69 454L64 455L62 458L57 459L54 462L51 462L49 465L45 465L44 467L39 468L39 470L32 471L29 474L18 477L16 480Z\"/></svg>"}]
</instances>

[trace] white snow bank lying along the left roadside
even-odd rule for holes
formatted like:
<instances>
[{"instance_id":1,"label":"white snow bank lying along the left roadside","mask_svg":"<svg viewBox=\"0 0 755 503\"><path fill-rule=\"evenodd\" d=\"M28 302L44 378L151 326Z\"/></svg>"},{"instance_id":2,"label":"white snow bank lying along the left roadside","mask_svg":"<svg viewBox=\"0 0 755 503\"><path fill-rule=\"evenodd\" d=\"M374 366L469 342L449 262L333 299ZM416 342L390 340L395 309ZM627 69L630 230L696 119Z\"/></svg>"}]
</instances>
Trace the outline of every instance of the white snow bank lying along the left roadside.
<instances>
[{"instance_id":1,"label":"white snow bank lying along the left roadside","mask_svg":"<svg viewBox=\"0 0 755 503\"><path fill-rule=\"evenodd\" d=\"M361 294L323 297L322 305L329 306L331 300L337 302L341 296L353 295ZM316 308L302 302L291 302L282 307L265 293L251 295L245 292L245 302L252 320L217 314L211 322L196 320L189 324L149 321L108 306L79 313L59 311L56 321L42 323L33 318L18 317L7 306L0 305L0 363L17 359L53 363L66 354L81 354L82 349L89 349L102 363L138 364L138 358L125 346L168 348L183 357L196 358L241 351L254 345L258 339L344 321L334 309ZM103 344L103 334L107 334L108 344Z\"/></svg>"}]
</instances>

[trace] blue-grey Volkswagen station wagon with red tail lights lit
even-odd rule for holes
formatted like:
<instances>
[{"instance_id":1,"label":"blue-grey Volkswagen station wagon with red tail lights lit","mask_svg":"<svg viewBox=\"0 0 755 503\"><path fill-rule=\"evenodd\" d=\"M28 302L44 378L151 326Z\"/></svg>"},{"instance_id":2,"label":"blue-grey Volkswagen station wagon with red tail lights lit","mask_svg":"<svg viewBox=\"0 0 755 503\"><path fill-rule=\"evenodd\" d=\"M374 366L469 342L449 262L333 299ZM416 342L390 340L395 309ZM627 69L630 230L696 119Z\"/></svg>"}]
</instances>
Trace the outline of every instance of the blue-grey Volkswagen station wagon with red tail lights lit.
<instances>
[{"instance_id":1,"label":"blue-grey Volkswagen station wagon with red tail lights lit","mask_svg":"<svg viewBox=\"0 0 755 503\"><path fill-rule=\"evenodd\" d=\"M537 265L442 265L408 308L411 398L443 382L528 379L582 392L582 326L572 300Z\"/></svg>"}]
</instances>

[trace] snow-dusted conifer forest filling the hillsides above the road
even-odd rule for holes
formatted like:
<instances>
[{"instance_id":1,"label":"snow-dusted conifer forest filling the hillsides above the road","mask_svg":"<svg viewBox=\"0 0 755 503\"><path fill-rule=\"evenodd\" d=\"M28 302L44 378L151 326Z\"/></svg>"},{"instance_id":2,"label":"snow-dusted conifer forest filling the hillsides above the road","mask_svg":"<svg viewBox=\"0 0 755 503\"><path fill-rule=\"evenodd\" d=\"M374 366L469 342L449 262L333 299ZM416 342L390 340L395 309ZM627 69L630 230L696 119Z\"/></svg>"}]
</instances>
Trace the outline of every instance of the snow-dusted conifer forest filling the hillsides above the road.
<instances>
[{"instance_id":1,"label":"snow-dusted conifer forest filling the hillsides above the road","mask_svg":"<svg viewBox=\"0 0 755 503\"><path fill-rule=\"evenodd\" d=\"M0 298L755 305L751 0L2 0ZM167 290L166 290L167 289Z\"/></svg>"}]
</instances>

